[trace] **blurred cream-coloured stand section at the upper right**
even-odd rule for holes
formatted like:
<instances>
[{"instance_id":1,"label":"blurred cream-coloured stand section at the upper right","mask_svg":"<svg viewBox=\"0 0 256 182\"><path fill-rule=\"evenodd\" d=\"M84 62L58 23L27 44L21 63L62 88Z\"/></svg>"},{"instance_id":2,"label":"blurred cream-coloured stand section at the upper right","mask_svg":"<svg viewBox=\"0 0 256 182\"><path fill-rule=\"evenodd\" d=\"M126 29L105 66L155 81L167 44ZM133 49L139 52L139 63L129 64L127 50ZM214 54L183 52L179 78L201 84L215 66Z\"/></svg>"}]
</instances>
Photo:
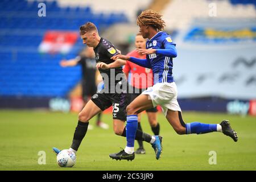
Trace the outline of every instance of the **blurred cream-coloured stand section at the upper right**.
<instances>
[{"instance_id":1,"label":"blurred cream-coloured stand section at the upper right","mask_svg":"<svg viewBox=\"0 0 256 182\"><path fill-rule=\"evenodd\" d=\"M187 28L195 18L211 18L209 16L211 8L216 8L214 18L255 18L255 3L256 1L253 0L172 0L164 7L162 14L167 28L169 26L181 30Z\"/></svg>"}]
</instances>

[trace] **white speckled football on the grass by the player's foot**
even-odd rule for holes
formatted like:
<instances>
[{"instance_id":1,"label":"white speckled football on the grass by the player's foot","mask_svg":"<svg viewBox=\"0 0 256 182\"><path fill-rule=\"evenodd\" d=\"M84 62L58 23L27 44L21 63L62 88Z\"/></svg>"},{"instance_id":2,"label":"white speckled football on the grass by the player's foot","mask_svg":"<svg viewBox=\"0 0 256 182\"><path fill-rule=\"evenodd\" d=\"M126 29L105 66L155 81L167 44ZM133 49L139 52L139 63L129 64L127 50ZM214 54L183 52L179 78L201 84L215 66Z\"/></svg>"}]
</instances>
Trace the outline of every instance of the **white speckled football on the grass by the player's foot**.
<instances>
[{"instance_id":1,"label":"white speckled football on the grass by the player's foot","mask_svg":"<svg viewBox=\"0 0 256 182\"><path fill-rule=\"evenodd\" d=\"M70 150L61 150L57 155L57 163L60 167L73 167L76 163L76 154Z\"/></svg>"}]
</instances>

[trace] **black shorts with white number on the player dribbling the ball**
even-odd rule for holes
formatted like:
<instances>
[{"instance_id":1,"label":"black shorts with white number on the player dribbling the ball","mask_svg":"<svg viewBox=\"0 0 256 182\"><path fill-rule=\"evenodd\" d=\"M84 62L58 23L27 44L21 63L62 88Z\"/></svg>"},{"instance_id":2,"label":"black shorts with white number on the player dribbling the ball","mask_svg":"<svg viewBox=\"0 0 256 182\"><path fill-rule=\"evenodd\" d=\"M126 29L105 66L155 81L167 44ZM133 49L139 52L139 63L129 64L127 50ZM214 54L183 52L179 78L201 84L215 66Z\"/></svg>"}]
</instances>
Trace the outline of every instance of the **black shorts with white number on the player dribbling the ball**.
<instances>
[{"instance_id":1,"label":"black shorts with white number on the player dribbling the ball","mask_svg":"<svg viewBox=\"0 0 256 182\"><path fill-rule=\"evenodd\" d=\"M127 93L104 93L94 94L91 100L102 111L113 106L113 119L126 121Z\"/></svg>"}]
</instances>

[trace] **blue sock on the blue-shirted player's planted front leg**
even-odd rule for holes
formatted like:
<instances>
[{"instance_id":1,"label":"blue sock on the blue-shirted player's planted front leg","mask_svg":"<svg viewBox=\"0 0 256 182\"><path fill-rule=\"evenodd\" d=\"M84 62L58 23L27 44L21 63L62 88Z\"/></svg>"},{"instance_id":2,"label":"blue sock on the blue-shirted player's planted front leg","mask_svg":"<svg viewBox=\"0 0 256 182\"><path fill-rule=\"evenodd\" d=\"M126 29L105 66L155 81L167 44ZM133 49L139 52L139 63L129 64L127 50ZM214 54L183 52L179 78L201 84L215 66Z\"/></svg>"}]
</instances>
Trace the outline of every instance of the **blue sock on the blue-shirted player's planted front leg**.
<instances>
[{"instance_id":1,"label":"blue sock on the blue-shirted player's planted front leg","mask_svg":"<svg viewBox=\"0 0 256 182\"><path fill-rule=\"evenodd\" d=\"M138 127L138 115L127 115L126 140L127 147L134 147L135 134Z\"/></svg>"}]
</instances>

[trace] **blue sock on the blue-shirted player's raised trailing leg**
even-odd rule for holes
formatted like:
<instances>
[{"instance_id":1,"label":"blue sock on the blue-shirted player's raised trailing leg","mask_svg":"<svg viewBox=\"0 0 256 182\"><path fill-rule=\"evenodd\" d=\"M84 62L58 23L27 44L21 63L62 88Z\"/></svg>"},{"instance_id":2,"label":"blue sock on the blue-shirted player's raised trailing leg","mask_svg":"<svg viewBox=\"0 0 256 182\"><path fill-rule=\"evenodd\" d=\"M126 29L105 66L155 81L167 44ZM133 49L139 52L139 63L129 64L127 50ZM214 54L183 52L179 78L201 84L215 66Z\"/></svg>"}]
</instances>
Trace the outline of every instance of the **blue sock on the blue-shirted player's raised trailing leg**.
<instances>
[{"instance_id":1,"label":"blue sock on the blue-shirted player's raised trailing leg","mask_svg":"<svg viewBox=\"0 0 256 182\"><path fill-rule=\"evenodd\" d=\"M217 124L205 124L200 122L193 122L186 124L186 134L203 134L217 131Z\"/></svg>"}]
</instances>

